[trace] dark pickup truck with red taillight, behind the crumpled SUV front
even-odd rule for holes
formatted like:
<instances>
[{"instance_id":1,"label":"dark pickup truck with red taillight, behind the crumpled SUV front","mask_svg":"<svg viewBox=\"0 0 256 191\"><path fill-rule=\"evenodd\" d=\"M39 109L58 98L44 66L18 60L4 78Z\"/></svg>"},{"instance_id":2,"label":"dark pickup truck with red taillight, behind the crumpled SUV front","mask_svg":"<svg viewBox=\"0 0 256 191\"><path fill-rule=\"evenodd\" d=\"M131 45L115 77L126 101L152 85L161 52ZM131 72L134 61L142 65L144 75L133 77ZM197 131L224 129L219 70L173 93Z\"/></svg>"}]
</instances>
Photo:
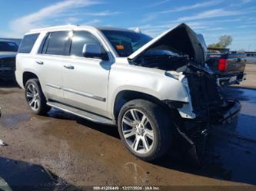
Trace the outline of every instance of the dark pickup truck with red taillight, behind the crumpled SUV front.
<instances>
[{"instance_id":1,"label":"dark pickup truck with red taillight, behind the crumpled SUV front","mask_svg":"<svg viewBox=\"0 0 256 191\"><path fill-rule=\"evenodd\" d=\"M226 48L208 48L208 67L220 86L239 84L246 77L246 54L231 52Z\"/></svg>"}]
</instances>

